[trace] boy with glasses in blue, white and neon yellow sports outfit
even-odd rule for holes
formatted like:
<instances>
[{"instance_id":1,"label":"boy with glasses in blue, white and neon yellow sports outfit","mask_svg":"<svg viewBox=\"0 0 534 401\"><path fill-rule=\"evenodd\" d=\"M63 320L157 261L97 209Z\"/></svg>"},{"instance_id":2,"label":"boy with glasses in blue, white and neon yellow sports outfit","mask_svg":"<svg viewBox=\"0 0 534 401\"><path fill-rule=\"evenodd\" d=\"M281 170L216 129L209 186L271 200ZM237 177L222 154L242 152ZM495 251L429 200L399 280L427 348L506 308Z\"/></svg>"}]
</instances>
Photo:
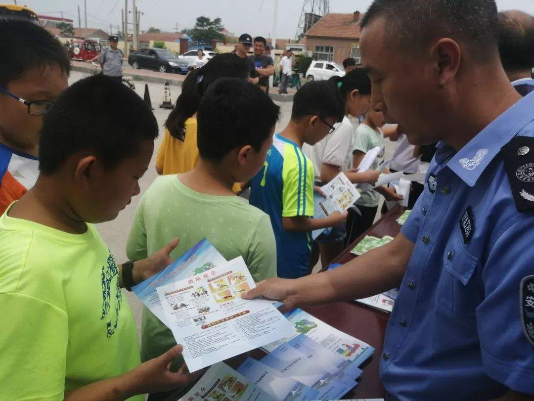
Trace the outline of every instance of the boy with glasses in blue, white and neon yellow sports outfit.
<instances>
[{"instance_id":1,"label":"boy with glasses in blue, white and neon yellow sports outfit","mask_svg":"<svg viewBox=\"0 0 534 401\"><path fill-rule=\"evenodd\" d=\"M340 91L327 81L309 82L295 94L291 120L274 135L264 168L250 182L250 204L271 217L276 239L277 273L305 276L309 270L311 231L343 224L346 214L313 219L313 163L304 143L315 145L341 121Z\"/></svg>"}]
</instances>

